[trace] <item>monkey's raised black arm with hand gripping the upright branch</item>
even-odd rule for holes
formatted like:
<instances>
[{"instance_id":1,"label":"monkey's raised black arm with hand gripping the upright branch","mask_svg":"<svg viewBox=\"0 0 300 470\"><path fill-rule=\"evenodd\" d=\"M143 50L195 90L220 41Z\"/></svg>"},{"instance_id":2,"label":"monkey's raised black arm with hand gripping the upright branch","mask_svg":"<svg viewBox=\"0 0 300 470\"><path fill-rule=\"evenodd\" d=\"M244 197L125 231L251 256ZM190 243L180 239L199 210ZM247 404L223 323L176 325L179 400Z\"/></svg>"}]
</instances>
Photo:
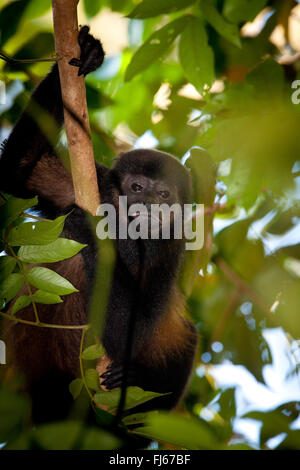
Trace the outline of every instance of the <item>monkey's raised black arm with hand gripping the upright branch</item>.
<instances>
[{"instance_id":1,"label":"monkey's raised black arm with hand gripping the upright branch","mask_svg":"<svg viewBox=\"0 0 300 470\"><path fill-rule=\"evenodd\" d=\"M95 70L104 58L99 40L88 34L89 28L81 28L78 42L81 47L80 59L72 59L70 64L79 67L79 75ZM0 160L0 190L17 197L42 195L53 199L53 185L66 184L67 173L59 161L52 163L49 155L55 155L54 147L63 124L63 103L61 97L58 66L33 92L31 99L12 130ZM44 162L33 170L37 162L46 156ZM48 158L47 158L48 156ZM45 178L46 173L46 178ZM40 179L41 178L41 179ZM70 185L71 181L69 181ZM51 188L50 195L46 189ZM69 201L72 202L72 201Z\"/></svg>"}]
</instances>

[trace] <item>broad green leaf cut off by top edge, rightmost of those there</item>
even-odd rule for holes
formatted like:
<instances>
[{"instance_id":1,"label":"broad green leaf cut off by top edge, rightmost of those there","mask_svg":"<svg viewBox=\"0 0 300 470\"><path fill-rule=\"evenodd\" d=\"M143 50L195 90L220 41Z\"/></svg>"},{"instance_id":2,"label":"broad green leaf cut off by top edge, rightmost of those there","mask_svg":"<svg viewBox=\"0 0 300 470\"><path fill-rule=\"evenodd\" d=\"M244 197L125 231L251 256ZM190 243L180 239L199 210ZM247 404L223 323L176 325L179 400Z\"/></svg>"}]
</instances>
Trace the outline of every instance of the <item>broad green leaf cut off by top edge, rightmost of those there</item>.
<instances>
[{"instance_id":1,"label":"broad green leaf cut off by top edge, rightmost of those there","mask_svg":"<svg viewBox=\"0 0 300 470\"><path fill-rule=\"evenodd\" d=\"M223 15L233 23L253 21L267 0L225 0Z\"/></svg>"}]
</instances>

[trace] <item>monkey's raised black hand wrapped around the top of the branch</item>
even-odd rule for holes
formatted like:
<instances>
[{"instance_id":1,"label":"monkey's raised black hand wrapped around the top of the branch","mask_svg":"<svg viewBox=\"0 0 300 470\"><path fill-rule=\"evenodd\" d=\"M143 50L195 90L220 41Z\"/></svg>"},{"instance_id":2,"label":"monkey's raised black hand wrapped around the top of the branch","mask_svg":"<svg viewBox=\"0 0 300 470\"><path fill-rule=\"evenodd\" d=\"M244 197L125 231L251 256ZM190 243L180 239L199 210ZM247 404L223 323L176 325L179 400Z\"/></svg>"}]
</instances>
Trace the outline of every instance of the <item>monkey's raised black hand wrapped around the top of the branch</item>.
<instances>
[{"instance_id":1,"label":"monkey's raised black hand wrapped around the top of the branch","mask_svg":"<svg viewBox=\"0 0 300 470\"><path fill-rule=\"evenodd\" d=\"M87 75L100 67L104 60L104 50L99 39L89 34L89 26L83 26L78 34L80 59L73 58L69 64L79 67L78 75Z\"/></svg>"}]
</instances>

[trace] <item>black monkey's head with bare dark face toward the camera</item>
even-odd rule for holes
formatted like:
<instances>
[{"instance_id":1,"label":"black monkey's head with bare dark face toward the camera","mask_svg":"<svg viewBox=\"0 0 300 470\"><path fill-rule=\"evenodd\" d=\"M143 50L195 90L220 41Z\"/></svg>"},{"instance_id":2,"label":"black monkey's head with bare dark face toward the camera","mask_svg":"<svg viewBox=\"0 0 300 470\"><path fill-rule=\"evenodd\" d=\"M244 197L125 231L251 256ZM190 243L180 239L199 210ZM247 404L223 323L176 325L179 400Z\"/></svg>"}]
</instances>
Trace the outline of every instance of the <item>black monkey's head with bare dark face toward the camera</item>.
<instances>
[{"instance_id":1,"label":"black monkey's head with bare dark face toward the camera","mask_svg":"<svg viewBox=\"0 0 300 470\"><path fill-rule=\"evenodd\" d=\"M163 235L168 229L173 232L175 221L177 226L182 224L183 205L189 199L189 174L174 157L156 150L133 150L119 157L113 174L119 194L127 199L128 223L134 220L133 226L148 225L148 233L154 228Z\"/></svg>"}]
</instances>

